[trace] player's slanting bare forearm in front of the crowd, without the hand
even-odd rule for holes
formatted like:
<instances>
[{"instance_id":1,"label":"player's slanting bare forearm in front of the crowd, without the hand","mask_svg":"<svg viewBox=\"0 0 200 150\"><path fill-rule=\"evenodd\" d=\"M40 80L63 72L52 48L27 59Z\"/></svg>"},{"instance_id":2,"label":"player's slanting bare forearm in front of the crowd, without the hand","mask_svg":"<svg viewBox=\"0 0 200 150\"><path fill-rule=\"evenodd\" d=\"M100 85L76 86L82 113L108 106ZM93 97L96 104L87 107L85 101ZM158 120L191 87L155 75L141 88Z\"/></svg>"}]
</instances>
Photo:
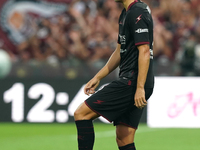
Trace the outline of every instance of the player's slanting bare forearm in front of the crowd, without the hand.
<instances>
[{"instance_id":1,"label":"player's slanting bare forearm in front of the crowd, without the hand","mask_svg":"<svg viewBox=\"0 0 200 150\"><path fill-rule=\"evenodd\" d=\"M119 63L120 63L120 45L118 44L116 50L110 56L106 65L95 75L95 78L98 78L99 80L103 79L113 70L115 70L119 66Z\"/></svg>"}]
</instances>

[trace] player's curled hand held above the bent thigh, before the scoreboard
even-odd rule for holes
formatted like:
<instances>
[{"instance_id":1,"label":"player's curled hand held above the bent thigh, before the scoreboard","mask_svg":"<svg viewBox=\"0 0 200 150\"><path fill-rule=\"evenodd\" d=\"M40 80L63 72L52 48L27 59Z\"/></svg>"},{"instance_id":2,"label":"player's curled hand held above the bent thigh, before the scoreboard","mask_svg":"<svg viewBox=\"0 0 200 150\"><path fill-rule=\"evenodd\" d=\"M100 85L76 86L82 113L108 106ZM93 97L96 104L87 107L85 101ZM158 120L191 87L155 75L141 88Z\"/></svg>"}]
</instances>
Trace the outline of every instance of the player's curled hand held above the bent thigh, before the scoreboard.
<instances>
[{"instance_id":1,"label":"player's curled hand held above the bent thigh, before the scoreboard","mask_svg":"<svg viewBox=\"0 0 200 150\"><path fill-rule=\"evenodd\" d=\"M99 85L100 80L92 78L84 87L84 93L86 95L94 94L96 87Z\"/></svg>"}]
</instances>

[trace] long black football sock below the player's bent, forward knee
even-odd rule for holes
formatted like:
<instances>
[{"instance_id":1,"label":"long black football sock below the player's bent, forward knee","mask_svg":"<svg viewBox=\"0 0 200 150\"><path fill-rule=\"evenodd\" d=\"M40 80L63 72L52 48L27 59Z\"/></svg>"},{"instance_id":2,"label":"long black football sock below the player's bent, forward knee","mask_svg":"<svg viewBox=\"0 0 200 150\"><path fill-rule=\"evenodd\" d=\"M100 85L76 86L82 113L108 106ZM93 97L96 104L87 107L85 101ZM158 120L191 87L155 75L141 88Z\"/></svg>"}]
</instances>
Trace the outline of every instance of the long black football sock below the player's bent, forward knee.
<instances>
[{"instance_id":1,"label":"long black football sock below the player's bent, forward knee","mask_svg":"<svg viewBox=\"0 0 200 150\"><path fill-rule=\"evenodd\" d=\"M94 145L94 128L92 120L75 121L78 132L79 150L92 150Z\"/></svg>"}]
</instances>

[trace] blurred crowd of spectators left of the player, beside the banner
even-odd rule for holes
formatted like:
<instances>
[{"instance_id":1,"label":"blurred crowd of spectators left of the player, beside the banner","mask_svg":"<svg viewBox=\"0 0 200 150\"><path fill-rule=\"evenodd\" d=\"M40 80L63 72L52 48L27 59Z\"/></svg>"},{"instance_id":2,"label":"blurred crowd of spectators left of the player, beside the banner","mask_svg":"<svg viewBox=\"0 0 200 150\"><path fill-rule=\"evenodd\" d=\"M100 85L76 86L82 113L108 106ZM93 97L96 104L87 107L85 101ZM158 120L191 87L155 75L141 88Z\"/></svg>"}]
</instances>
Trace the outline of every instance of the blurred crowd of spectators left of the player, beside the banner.
<instances>
[{"instance_id":1,"label":"blurred crowd of spectators left of the player, beside the banner","mask_svg":"<svg viewBox=\"0 0 200 150\"><path fill-rule=\"evenodd\" d=\"M73 0L64 13L29 20L34 30L18 44L13 58L17 56L17 60L24 62L34 59L50 63L68 61L72 65L86 63L100 68L115 50L121 10L111 0ZM28 15L30 18L31 14Z\"/></svg>"}]
</instances>

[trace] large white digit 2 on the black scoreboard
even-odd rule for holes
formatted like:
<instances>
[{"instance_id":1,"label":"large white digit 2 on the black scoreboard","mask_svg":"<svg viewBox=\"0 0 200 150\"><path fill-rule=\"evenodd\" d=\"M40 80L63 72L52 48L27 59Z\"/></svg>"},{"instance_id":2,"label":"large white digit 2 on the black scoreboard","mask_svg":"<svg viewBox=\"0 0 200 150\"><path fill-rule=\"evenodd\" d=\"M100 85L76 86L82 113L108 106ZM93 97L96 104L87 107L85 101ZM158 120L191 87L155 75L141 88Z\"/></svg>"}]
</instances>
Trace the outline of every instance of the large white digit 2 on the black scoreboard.
<instances>
[{"instance_id":1,"label":"large white digit 2 on the black scoreboard","mask_svg":"<svg viewBox=\"0 0 200 150\"><path fill-rule=\"evenodd\" d=\"M28 91L28 97L31 99L42 98L31 108L27 115L29 122L53 122L55 114L53 110L47 110L55 98L54 89L46 83L33 85Z\"/></svg>"}]
</instances>

